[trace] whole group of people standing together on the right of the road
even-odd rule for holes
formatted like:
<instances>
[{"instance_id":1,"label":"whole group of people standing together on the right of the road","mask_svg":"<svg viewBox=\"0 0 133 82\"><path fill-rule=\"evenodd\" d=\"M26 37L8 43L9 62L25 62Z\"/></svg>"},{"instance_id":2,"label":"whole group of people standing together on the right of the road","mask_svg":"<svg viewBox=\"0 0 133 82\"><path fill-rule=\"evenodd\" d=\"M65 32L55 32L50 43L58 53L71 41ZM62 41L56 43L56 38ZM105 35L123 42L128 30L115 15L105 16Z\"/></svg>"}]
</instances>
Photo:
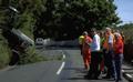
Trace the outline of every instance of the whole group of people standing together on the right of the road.
<instances>
[{"instance_id":1,"label":"whole group of people standing together on the right of the road","mask_svg":"<svg viewBox=\"0 0 133 82\"><path fill-rule=\"evenodd\" d=\"M85 79L99 79L101 72L106 71L104 79L122 80L124 35L120 31L91 29L79 37L79 44L88 70Z\"/></svg>"}]
</instances>

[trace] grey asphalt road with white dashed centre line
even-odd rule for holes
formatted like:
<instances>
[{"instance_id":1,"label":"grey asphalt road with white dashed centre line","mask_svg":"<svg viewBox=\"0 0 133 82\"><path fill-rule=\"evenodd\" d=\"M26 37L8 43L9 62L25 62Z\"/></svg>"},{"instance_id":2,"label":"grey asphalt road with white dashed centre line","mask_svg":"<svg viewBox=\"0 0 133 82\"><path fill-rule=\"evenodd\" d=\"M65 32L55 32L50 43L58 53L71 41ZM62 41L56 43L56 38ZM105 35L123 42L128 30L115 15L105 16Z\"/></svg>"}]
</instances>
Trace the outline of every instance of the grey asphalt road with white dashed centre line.
<instances>
[{"instance_id":1,"label":"grey asphalt road with white dashed centre line","mask_svg":"<svg viewBox=\"0 0 133 82\"><path fill-rule=\"evenodd\" d=\"M41 53L63 54L63 60L9 66L0 71L0 82L114 82L111 80L84 80L86 71L76 49L41 50ZM48 54L48 57L50 55ZM123 82L127 82L123 79Z\"/></svg>"}]
</instances>

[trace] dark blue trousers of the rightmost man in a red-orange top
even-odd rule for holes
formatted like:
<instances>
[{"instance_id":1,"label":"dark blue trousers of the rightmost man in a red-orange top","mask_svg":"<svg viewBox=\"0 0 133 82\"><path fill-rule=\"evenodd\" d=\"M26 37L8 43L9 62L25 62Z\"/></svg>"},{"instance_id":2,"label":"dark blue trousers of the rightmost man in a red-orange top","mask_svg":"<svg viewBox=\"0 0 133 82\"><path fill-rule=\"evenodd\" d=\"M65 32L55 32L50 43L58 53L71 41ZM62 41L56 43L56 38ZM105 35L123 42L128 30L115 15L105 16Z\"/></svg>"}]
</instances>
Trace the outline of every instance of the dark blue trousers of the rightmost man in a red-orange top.
<instances>
[{"instance_id":1,"label":"dark blue trousers of the rightmost man in a red-orange top","mask_svg":"<svg viewBox=\"0 0 133 82\"><path fill-rule=\"evenodd\" d=\"M115 73L115 80L122 79L122 62L123 62L123 54L115 54L114 55L114 73Z\"/></svg>"}]
</instances>

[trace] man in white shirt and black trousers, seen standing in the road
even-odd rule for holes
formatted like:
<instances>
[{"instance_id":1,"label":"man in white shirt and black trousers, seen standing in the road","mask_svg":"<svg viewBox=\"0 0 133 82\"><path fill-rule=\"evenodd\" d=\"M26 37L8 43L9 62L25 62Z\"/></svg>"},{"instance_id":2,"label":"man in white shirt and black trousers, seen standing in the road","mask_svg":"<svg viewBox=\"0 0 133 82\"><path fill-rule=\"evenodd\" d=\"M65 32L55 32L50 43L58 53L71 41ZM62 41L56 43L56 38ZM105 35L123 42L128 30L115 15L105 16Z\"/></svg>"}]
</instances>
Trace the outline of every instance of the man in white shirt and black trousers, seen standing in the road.
<instances>
[{"instance_id":1,"label":"man in white shirt and black trousers, seen standing in the road","mask_svg":"<svg viewBox=\"0 0 133 82\"><path fill-rule=\"evenodd\" d=\"M96 33L95 29L91 30L93 40L91 43L91 64L90 70L88 72L88 75L85 75L86 79L98 79L100 75L99 65L101 63L100 58L100 37Z\"/></svg>"}]
</instances>

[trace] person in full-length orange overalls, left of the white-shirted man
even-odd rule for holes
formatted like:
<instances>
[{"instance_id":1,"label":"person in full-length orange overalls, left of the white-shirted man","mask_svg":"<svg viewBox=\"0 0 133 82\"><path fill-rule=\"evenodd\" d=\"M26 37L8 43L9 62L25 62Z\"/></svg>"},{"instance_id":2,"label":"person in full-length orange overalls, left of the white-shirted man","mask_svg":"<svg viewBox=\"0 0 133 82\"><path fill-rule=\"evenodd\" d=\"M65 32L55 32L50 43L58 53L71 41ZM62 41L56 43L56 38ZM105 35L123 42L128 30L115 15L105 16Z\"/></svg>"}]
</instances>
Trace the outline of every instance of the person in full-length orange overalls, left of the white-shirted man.
<instances>
[{"instance_id":1,"label":"person in full-length orange overalls, left of the white-shirted man","mask_svg":"<svg viewBox=\"0 0 133 82\"><path fill-rule=\"evenodd\" d=\"M92 39L88 35L86 31L83 32L83 35L84 35L83 48L82 48L83 61L84 61L84 68L86 70L89 70L89 65L91 63L91 49L90 49L90 44L92 42Z\"/></svg>"}]
</instances>

